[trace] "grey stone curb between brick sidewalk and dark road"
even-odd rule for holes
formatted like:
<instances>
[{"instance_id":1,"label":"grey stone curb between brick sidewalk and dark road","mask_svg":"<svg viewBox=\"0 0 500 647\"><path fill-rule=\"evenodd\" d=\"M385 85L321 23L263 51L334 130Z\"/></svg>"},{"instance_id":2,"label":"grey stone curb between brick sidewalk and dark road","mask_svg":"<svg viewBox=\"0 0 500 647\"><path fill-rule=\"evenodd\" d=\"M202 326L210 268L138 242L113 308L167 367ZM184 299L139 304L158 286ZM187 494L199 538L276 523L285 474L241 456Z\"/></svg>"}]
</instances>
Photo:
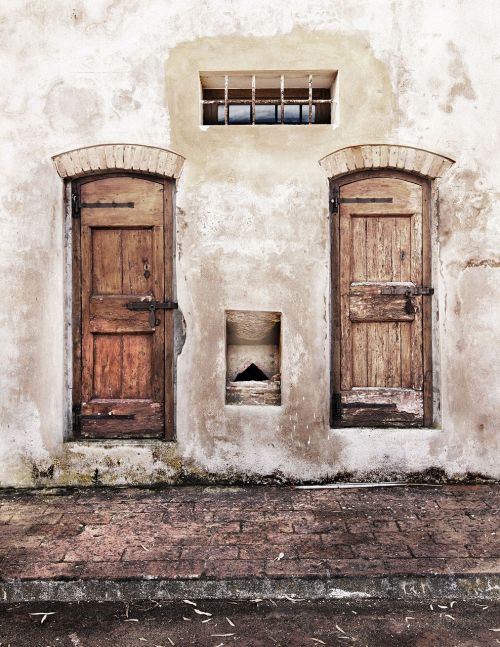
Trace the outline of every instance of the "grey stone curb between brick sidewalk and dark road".
<instances>
[{"instance_id":1,"label":"grey stone curb between brick sidewalk and dark road","mask_svg":"<svg viewBox=\"0 0 500 647\"><path fill-rule=\"evenodd\" d=\"M500 575L421 575L220 580L13 580L0 583L0 602L117 602L255 598L307 600L500 600Z\"/></svg>"}]
</instances>

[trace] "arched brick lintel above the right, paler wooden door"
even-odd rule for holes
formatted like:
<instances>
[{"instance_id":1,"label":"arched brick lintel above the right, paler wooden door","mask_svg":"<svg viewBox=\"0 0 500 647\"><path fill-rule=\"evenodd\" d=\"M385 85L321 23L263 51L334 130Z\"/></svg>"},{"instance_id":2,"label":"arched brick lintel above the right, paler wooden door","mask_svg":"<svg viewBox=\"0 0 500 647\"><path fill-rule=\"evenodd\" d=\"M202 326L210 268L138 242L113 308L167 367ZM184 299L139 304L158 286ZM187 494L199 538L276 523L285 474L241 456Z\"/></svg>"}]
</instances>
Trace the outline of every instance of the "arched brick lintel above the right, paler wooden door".
<instances>
[{"instance_id":1,"label":"arched brick lintel above the right, paler wooden door","mask_svg":"<svg viewBox=\"0 0 500 647\"><path fill-rule=\"evenodd\" d=\"M449 157L412 146L366 144L341 148L323 157L319 163L330 178L355 171L388 168L434 180L455 162Z\"/></svg>"}]
</instances>

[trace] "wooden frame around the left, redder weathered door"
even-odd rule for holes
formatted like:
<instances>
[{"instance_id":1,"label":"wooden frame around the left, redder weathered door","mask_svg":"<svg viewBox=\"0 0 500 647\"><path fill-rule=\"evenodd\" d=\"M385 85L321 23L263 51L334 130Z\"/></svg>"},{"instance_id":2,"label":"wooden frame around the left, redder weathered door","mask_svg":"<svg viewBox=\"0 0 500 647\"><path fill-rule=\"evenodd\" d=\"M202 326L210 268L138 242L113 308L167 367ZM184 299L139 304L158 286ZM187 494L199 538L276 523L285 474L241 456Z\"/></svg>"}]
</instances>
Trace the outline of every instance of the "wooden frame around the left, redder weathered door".
<instances>
[{"instance_id":1,"label":"wooden frame around the left, redder weathered door","mask_svg":"<svg viewBox=\"0 0 500 647\"><path fill-rule=\"evenodd\" d=\"M175 285L175 180L161 175L141 173L137 171L116 170L111 172L91 173L72 179L65 187L65 322L66 322L66 406L64 439L80 440L75 425L78 407L81 403L81 345L82 345L82 299L81 299L81 256L80 256L80 225L79 218L74 217L73 200L80 187L89 182L111 177L140 178L161 184L164 188L164 258L165 258L165 287L171 286L172 299L176 300ZM170 236L167 233L170 232ZM167 259L170 260L167 263ZM75 298L75 295L78 295ZM175 311L172 313L174 324L165 327L165 434L160 440L175 440L175 372L176 353ZM96 439L88 442L102 442ZM134 438L118 442L151 442L148 439ZM158 439L156 439L158 440ZM86 441L87 442L87 441ZM106 440L106 442L110 442ZM111 441L114 442L114 441Z\"/></svg>"}]
</instances>

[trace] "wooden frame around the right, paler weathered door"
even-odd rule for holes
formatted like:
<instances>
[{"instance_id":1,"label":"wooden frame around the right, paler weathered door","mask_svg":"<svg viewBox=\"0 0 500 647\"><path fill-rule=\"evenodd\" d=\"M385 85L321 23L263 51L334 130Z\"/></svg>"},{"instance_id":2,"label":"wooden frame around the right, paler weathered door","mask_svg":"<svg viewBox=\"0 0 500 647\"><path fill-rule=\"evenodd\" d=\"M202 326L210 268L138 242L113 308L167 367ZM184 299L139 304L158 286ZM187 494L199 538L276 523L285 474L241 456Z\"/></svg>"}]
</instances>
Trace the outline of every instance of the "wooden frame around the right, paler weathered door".
<instances>
[{"instance_id":1,"label":"wooden frame around the right, paler weathered door","mask_svg":"<svg viewBox=\"0 0 500 647\"><path fill-rule=\"evenodd\" d=\"M422 285L432 285L431 182L412 173L389 168L357 171L330 179L330 205L334 191L342 186L370 178L395 178L422 188ZM330 209L330 427L344 429L335 421L334 394L340 392L340 209ZM422 298L423 427L433 423L432 301Z\"/></svg>"}]
</instances>

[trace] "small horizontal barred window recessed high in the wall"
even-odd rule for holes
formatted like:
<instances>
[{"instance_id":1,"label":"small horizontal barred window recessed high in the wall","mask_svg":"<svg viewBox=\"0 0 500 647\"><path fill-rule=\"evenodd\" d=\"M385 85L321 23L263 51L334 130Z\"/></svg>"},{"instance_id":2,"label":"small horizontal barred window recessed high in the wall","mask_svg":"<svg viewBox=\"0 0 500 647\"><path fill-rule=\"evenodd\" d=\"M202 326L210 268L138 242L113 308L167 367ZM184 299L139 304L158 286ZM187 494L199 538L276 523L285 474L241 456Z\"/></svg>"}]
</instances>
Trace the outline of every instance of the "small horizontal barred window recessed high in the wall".
<instances>
[{"instance_id":1,"label":"small horizontal barred window recessed high in the wall","mask_svg":"<svg viewBox=\"0 0 500 647\"><path fill-rule=\"evenodd\" d=\"M202 123L331 124L335 80L335 72L202 72Z\"/></svg>"}]
</instances>

